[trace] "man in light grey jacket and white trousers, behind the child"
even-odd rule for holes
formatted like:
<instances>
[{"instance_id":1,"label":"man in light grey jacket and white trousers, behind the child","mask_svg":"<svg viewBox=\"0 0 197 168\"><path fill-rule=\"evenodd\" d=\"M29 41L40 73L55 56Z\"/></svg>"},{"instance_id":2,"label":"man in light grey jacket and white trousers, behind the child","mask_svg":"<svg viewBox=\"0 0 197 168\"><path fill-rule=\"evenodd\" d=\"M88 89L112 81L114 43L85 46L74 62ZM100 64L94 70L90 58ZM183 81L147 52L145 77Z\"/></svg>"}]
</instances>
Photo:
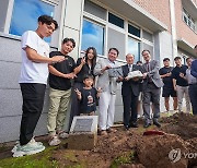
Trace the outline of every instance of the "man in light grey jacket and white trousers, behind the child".
<instances>
[{"instance_id":1,"label":"man in light grey jacket and white trousers, behind the child","mask_svg":"<svg viewBox=\"0 0 197 168\"><path fill-rule=\"evenodd\" d=\"M94 68L94 74L99 75L96 87L102 88L100 96L100 121L101 135L107 135L107 132L115 132L112 129L114 124L115 100L116 100L116 86L117 76L113 73L113 68L116 68L115 62L119 51L116 48L108 50L107 59L100 59Z\"/></svg>"}]
</instances>

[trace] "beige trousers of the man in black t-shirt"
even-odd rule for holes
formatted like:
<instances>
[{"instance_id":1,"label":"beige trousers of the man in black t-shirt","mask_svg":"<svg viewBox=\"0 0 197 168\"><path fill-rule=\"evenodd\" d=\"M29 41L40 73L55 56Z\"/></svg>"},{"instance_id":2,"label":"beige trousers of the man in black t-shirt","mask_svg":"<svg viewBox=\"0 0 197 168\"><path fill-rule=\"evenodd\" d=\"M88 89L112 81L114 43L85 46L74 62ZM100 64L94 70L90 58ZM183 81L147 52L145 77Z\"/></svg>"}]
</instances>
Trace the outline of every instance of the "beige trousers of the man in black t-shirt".
<instances>
[{"instance_id":1,"label":"beige trousers of the man in black t-shirt","mask_svg":"<svg viewBox=\"0 0 197 168\"><path fill-rule=\"evenodd\" d=\"M71 89L60 91L49 88L49 111L47 118L47 129L49 135L54 136L56 131L62 131L68 106L70 103Z\"/></svg>"}]
</instances>

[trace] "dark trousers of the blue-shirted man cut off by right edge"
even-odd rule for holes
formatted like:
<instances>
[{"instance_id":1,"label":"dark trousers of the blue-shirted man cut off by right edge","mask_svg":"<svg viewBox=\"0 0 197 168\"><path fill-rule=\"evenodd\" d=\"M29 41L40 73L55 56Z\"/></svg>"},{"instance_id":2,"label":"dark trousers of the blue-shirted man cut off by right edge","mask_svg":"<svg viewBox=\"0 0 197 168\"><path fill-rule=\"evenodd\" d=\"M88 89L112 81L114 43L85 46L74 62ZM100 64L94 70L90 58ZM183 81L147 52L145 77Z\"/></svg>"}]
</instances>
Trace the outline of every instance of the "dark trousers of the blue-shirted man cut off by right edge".
<instances>
[{"instance_id":1,"label":"dark trousers of the blue-shirted man cut off by right edge","mask_svg":"<svg viewBox=\"0 0 197 168\"><path fill-rule=\"evenodd\" d=\"M189 85L188 93L193 107L193 115L197 115L197 84Z\"/></svg>"}]
</instances>

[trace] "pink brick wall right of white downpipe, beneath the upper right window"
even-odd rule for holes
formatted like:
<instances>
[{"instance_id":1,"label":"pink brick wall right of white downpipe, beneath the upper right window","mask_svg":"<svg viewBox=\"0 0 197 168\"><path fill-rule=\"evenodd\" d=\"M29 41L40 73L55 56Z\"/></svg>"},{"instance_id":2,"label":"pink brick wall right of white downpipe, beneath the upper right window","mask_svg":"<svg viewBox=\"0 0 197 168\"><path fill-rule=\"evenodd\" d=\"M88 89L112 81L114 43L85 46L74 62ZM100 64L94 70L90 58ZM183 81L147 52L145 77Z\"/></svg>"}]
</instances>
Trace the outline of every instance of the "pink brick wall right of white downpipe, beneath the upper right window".
<instances>
[{"instance_id":1,"label":"pink brick wall right of white downpipe, beneath the upper right window","mask_svg":"<svg viewBox=\"0 0 197 168\"><path fill-rule=\"evenodd\" d=\"M177 39L184 38L190 45L195 46L197 44L197 33L189 28L183 21L183 7L182 0L174 0L175 3L175 14L176 14L176 34ZM197 12L197 11L196 11Z\"/></svg>"}]
</instances>

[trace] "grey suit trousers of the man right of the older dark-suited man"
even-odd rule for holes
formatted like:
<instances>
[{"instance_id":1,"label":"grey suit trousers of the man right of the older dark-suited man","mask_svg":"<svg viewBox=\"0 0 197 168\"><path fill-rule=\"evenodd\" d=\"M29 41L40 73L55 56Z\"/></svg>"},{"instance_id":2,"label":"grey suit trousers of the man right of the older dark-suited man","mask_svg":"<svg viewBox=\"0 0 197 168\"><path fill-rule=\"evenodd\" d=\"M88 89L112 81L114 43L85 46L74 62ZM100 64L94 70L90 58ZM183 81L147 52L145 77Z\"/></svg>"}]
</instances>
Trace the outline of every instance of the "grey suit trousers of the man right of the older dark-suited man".
<instances>
[{"instance_id":1,"label":"grey suit trousers of the man right of the older dark-suited man","mask_svg":"<svg viewBox=\"0 0 197 168\"><path fill-rule=\"evenodd\" d=\"M160 93L161 88L158 88L153 83L148 83L143 87L143 113L146 122L151 122L150 116L150 104L152 101L153 105L153 120L158 120L160 118Z\"/></svg>"}]
</instances>

